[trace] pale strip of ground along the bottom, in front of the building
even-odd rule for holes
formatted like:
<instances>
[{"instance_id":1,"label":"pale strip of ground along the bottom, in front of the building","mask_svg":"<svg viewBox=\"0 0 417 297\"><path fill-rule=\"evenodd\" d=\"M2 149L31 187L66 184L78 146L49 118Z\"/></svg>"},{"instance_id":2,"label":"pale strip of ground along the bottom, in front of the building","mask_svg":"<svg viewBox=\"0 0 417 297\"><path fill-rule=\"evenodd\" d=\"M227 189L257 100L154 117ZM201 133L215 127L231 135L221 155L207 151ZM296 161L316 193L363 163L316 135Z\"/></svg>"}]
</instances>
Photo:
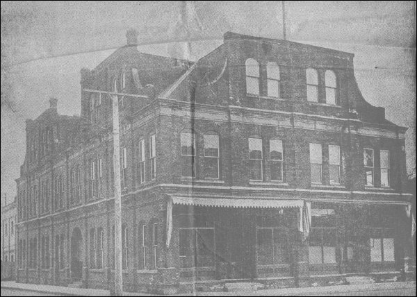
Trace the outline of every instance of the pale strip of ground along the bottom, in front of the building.
<instances>
[{"instance_id":1,"label":"pale strip of ground along the bottom, in front of the building","mask_svg":"<svg viewBox=\"0 0 417 297\"><path fill-rule=\"evenodd\" d=\"M110 296L109 291L101 289L76 289L51 285L17 284L1 282L1 289L33 291L37 294L56 294L61 296ZM401 294L395 294L398 292ZM381 294L379 294L379 292ZM404 294L406 292L406 294ZM270 289L259 291L234 292L195 292L195 294L177 294L172 296L416 296L416 282L386 282L369 285L343 285L332 287L308 287L289 289ZM376 294L376 295L375 295ZM156 296L125 292L124 296Z\"/></svg>"}]
</instances>

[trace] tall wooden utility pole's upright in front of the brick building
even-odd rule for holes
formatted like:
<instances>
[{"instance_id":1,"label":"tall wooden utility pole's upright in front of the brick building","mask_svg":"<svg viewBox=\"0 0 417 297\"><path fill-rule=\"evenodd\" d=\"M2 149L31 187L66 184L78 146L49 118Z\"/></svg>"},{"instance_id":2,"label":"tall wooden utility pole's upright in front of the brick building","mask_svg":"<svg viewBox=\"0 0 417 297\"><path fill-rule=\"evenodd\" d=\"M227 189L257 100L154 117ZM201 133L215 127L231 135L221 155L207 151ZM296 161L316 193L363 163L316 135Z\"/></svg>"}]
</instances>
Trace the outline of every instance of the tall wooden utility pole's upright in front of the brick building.
<instances>
[{"instance_id":1,"label":"tall wooden utility pole's upright in front of the brick building","mask_svg":"<svg viewBox=\"0 0 417 297\"><path fill-rule=\"evenodd\" d=\"M115 176L115 296L123 294L122 271L122 189L120 187L119 99L113 101L113 169Z\"/></svg>"}]
</instances>

